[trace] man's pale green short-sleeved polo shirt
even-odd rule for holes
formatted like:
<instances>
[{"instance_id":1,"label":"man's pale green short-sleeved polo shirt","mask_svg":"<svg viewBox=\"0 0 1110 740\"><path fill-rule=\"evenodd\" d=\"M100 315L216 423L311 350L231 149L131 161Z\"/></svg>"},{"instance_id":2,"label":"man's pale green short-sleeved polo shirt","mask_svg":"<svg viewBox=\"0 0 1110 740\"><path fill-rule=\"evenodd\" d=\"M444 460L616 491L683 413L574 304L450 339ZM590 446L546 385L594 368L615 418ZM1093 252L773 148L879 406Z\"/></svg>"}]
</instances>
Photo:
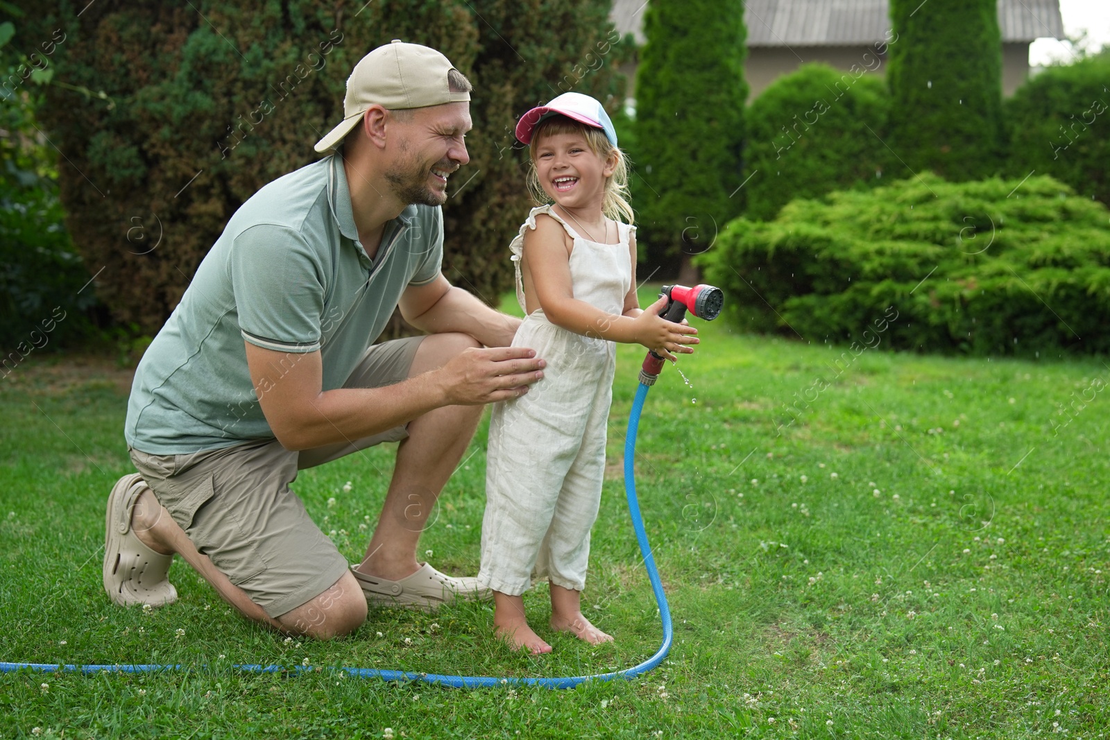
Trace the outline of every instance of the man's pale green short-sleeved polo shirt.
<instances>
[{"instance_id":1,"label":"man's pale green short-sleeved polo shirt","mask_svg":"<svg viewBox=\"0 0 1110 740\"><path fill-rule=\"evenodd\" d=\"M366 256L339 155L271 182L228 222L139 363L128 444L175 455L273 438L243 342L289 353L271 381L319 349L323 389L342 387L405 287L435 280L442 259L443 215L426 205L389 222Z\"/></svg>"}]
</instances>

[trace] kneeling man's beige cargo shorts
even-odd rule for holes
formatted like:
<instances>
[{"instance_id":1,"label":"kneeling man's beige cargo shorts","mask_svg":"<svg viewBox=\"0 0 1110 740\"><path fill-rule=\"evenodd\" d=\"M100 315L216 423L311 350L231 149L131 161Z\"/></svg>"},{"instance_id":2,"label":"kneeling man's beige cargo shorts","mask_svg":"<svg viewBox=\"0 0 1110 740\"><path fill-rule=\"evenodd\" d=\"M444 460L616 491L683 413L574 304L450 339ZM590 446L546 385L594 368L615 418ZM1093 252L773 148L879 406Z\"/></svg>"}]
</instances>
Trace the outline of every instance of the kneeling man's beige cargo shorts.
<instances>
[{"instance_id":1,"label":"kneeling man's beige cargo shorts","mask_svg":"<svg viewBox=\"0 0 1110 740\"><path fill-rule=\"evenodd\" d=\"M376 388L408 376L423 337L366 351L345 388ZM407 437L404 426L351 443L294 453L255 439L188 455L131 449L131 460L189 539L271 617L323 594L346 559L289 488L300 469Z\"/></svg>"}]
</instances>

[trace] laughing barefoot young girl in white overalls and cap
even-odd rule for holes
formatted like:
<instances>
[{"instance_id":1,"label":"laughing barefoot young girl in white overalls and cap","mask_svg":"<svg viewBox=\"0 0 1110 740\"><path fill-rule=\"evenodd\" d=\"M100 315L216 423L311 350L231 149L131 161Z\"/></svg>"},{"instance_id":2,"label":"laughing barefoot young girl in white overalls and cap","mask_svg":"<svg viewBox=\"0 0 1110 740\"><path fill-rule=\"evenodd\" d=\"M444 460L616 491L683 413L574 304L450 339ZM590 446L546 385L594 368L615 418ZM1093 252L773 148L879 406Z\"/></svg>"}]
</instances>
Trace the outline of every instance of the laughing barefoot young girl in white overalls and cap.
<instances>
[{"instance_id":1,"label":"laughing barefoot young girl in white overalls and cap","mask_svg":"<svg viewBox=\"0 0 1110 740\"><path fill-rule=\"evenodd\" d=\"M698 339L697 330L659 317L666 298L639 308L627 168L602 104L564 93L525 113L516 138L531 144L528 184L546 203L509 245L527 314L513 346L547 365L527 394L493 409L478 582L494 591L497 635L538 655L552 647L524 616L533 576L551 584L552 629L613 639L579 606L605 473L613 343L674 359Z\"/></svg>"}]
</instances>

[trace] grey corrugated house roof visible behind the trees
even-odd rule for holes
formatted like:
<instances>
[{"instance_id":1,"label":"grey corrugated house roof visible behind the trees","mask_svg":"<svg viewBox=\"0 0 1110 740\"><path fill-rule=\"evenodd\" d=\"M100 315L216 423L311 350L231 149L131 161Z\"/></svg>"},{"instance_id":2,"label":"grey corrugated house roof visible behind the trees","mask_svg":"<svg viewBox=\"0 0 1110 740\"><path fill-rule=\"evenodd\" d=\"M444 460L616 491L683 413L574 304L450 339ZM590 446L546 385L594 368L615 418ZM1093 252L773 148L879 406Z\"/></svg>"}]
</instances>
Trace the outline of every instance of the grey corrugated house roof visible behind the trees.
<instances>
[{"instance_id":1,"label":"grey corrugated house roof visible behind the trees","mask_svg":"<svg viewBox=\"0 0 1110 740\"><path fill-rule=\"evenodd\" d=\"M928 0L925 0L928 2ZM887 0L748 0L744 20L749 47L854 47L886 38ZM924 4L924 3L922 3ZM647 0L614 0L617 30L644 43ZM1059 0L998 0L1002 42L1063 38Z\"/></svg>"}]
</instances>

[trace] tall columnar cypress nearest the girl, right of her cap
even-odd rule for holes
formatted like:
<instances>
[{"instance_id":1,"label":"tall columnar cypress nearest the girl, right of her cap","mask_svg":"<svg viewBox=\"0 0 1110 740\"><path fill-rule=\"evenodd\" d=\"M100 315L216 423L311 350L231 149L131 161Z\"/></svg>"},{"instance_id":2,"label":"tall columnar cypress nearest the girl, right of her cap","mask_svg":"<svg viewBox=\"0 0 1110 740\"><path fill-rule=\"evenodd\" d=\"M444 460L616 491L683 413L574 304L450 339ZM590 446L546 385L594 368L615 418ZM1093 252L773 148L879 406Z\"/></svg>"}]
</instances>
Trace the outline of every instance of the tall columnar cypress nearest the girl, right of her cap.
<instances>
[{"instance_id":1,"label":"tall columnar cypress nearest the girl, right of her cap","mask_svg":"<svg viewBox=\"0 0 1110 740\"><path fill-rule=\"evenodd\" d=\"M741 0L652 0L636 78L636 202L652 262L709 247L744 182Z\"/></svg>"}]
</instances>

